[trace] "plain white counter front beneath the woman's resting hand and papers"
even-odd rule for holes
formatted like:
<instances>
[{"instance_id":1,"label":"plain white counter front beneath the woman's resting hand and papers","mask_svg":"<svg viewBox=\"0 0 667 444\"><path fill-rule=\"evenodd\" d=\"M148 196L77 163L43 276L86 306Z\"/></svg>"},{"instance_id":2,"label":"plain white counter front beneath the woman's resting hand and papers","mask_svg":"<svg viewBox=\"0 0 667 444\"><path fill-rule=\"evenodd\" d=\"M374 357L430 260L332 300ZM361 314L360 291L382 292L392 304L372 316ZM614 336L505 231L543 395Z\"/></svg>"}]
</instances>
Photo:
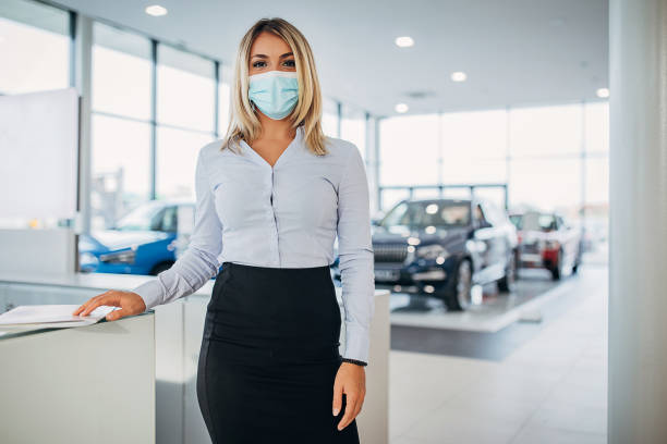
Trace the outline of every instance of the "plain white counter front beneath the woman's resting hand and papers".
<instances>
[{"instance_id":1,"label":"plain white counter front beneath the woman's resting hand and papers","mask_svg":"<svg viewBox=\"0 0 667 444\"><path fill-rule=\"evenodd\" d=\"M155 443L154 312L0 329L0 356L1 442Z\"/></svg>"}]
</instances>

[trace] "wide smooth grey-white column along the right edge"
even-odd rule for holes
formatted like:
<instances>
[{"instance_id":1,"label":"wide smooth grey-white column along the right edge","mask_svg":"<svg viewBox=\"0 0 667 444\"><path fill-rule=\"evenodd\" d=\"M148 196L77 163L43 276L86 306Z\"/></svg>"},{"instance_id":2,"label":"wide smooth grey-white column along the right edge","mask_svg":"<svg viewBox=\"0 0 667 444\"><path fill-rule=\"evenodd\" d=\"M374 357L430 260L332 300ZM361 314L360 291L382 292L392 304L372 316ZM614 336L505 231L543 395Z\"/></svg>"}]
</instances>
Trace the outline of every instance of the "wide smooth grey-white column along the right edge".
<instances>
[{"instance_id":1,"label":"wide smooth grey-white column along the right edge","mask_svg":"<svg viewBox=\"0 0 667 444\"><path fill-rule=\"evenodd\" d=\"M610 0L608 442L667 442L667 0Z\"/></svg>"}]
</instances>

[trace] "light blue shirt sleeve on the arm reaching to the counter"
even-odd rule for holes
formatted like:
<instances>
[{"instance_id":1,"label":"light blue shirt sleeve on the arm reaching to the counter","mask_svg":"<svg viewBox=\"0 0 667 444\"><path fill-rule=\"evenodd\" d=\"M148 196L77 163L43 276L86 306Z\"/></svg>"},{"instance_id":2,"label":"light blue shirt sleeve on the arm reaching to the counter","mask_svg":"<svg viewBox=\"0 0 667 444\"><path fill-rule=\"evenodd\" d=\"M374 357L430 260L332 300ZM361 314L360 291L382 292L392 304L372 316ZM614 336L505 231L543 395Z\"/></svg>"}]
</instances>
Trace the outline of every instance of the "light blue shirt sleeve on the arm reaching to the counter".
<instances>
[{"instance_id":1,"label":"light blue shirt sleeve on the arm reaching to the counter","mask_svg":"<svg viewBox=\"0 0 667 444\"><path fill-rule=\"evenodd\" d=\"M222 251L222 224L216 212L206 170L206 147L197 156L195 223L187 248L171 268L132 289L144 299L147 310L193 294L216 275L220 267L218 256Z\"/></svg>"}]
</instances>

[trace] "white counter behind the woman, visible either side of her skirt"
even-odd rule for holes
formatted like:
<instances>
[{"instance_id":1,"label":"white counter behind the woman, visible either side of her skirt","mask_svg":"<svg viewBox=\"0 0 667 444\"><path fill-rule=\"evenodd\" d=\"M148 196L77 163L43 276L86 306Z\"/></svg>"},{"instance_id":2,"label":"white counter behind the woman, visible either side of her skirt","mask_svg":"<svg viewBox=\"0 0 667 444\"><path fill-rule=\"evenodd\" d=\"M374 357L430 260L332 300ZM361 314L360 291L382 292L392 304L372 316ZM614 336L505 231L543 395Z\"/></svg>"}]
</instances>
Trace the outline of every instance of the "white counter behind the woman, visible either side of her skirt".
<instances>
[{"instance_id":1,"label":"white counter behind the woman, visible either side of her skirt","mask_svg":"<svg viewBox=\"0 0 667 444\"><path fill-rule=\"evenodd\" d=\"M132 289L155 276L0 272L0 310L24 304L80 304L107 289ZM156 436L160 444L210 443L196 397L196 371L214 280L191 296L155 307ZM341 288L336 287L341 317ZM122 321L122 320L121 320ZM342 320L341 320L342 321ZM117 321L118 322L118 321ZM113 322L109 322L112 324ZM375 292L366 398L356 421L364 444L389 442L389 291ZM344 322L341 353L344 349Z\"/></svg>"}]
</instances>

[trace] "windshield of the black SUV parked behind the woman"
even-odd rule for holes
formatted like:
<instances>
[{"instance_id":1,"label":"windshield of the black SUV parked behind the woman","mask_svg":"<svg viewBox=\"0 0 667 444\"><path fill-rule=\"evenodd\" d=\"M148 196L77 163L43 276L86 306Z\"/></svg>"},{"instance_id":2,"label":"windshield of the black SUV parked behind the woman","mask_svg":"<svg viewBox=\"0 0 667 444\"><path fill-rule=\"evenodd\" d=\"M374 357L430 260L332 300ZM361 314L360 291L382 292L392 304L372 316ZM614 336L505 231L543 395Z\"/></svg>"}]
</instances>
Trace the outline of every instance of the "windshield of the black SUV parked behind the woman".
<instances>
[{"instance_id":1,"label":"windshield of the black SUV parked behind the woman","mask_svg":"<svg viewBox=\"0 0 667 444\"><path fill-rule=\"evenodd\" d=\"M469 224L470 202L465 201L404 201L393 207L379 223L385 229L405 226L416 230Z\"/></svg>"}]
</instances>

